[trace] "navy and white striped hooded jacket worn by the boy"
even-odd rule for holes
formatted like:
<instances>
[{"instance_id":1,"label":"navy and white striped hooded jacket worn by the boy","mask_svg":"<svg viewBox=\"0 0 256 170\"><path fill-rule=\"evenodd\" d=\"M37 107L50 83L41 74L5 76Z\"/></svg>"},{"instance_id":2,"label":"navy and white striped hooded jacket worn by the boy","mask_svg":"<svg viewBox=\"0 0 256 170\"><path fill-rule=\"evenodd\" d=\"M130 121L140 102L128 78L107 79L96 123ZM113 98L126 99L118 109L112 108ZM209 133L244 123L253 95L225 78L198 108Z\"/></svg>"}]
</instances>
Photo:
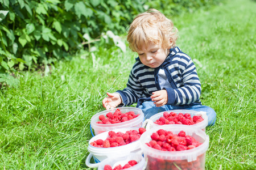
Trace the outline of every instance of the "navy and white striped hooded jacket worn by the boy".
<instances>
[{"instance_id":1,"label":"navy and white striped hooded jacket worn by the boy","mask_svg":"<svg viewBox=\"0 0 256 170\"><path fill-rule=\"evenodd\" d=\"M171 84L171 88L163 88L168 95L167 105L201 104L201 83L196 67L192 59L176 46L170 49L166 60L157 68L145 66L139 57L136 58L127 87L117 91L122 98L122 105L143 103L144 100L151 100L152 92L162 90L158 78L160 69L164 70Z\"/></svg>"}]
</instances>

